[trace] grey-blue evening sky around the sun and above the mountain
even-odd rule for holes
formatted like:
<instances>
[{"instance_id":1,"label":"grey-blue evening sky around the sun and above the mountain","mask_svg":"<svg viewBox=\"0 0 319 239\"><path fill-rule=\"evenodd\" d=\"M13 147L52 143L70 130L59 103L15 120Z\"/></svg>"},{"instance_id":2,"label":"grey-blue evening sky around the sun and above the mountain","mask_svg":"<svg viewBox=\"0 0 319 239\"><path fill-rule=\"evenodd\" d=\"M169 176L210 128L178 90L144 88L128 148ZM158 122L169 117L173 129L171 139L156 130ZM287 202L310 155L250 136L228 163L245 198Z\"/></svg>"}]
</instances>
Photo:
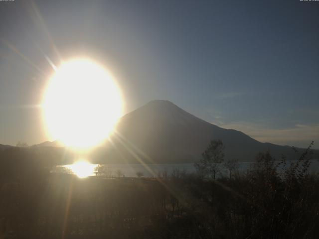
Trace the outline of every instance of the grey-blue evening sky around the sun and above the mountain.
<instances>
[{"instance_id":1,"label":"grey-blue evening sky around the sun and above the mountain","mask_svg":"<svg viewBox=\"0 0 319 239\"><path fill-rule=\"evenodd\" d=\"M107 67L125 113L151 100L262 142L319 148L319 1L0 1L0 144L48 140L52 64Z\"/></svg>"}]
</instances>

